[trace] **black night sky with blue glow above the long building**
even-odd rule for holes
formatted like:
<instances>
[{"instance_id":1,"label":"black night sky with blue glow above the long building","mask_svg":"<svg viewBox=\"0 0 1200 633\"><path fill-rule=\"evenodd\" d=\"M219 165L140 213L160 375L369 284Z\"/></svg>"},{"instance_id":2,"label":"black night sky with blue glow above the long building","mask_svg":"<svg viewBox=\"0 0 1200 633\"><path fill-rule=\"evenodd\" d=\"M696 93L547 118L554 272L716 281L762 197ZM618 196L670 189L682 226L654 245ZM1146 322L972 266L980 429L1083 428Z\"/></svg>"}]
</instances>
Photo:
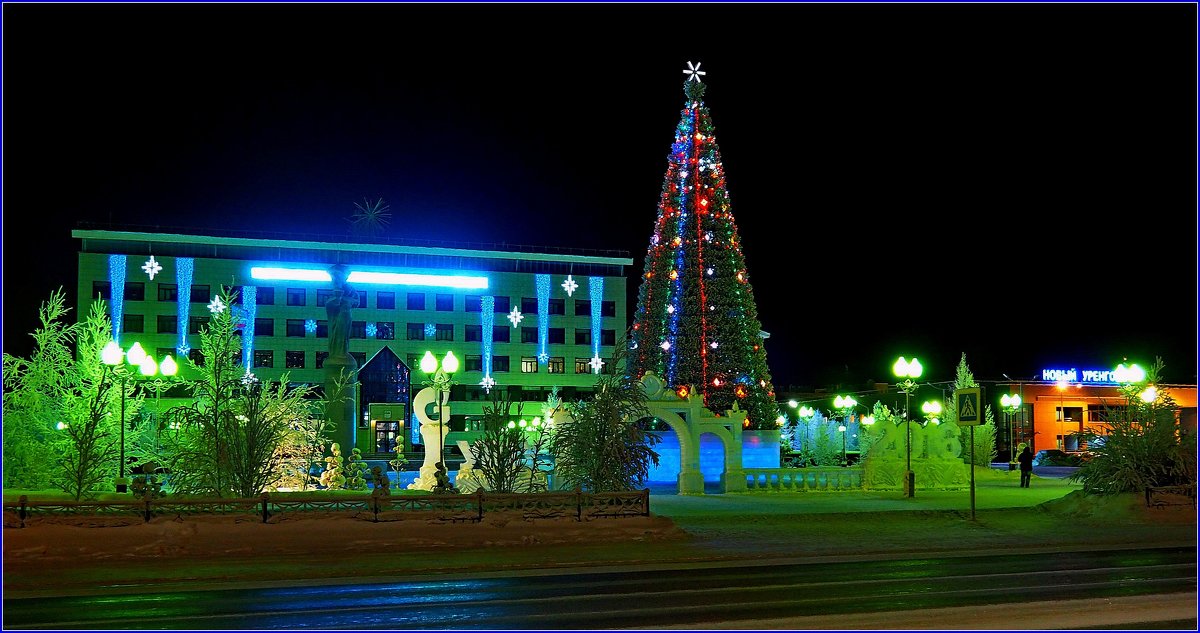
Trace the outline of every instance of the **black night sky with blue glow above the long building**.
<instances>
[{"instance_id":1,"label":"black night sky with blue glow above the long building","mask_svg":"<svg viewBox=\"0 0 1200 633\"><path fill-rule=\"evenodd\" d=\"M4 351L77 222L628 251L706 103L786 385L1196 374L1194 4L4 5Z\"/></svg>"}]
</instances>

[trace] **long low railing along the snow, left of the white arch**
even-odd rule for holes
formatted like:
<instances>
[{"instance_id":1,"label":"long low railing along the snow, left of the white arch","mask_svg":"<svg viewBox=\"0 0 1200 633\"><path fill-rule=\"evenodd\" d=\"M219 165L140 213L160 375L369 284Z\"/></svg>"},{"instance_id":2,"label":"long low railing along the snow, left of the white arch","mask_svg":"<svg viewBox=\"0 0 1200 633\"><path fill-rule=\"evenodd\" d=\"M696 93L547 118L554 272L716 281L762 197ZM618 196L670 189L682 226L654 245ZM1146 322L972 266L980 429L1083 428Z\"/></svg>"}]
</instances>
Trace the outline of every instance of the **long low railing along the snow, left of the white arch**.
<instances>
[{"instance_id":1,"label":"long low railing along the snow, left of the white arch","mask_svg":"<svg viewBox=\"0 0 1200 633\"><path fill-rule=\"evenodd\" d=\"M268 523L271 517L302 512L370 513L379 520L386 512L432 512L442 520L481 522L486 512L521 512L524 518L574 517L588 520L604 517L648 517L650 490L619 493L486 493L469 495L373 495L361 496L280 496L263 493L258 499L130 499L120 501L30 501L22 495L18 501L5 501L5 512L14 512L25 526L34 516L139 516L150 522L154 517L196 514L251 514Z\"/></svg>"}]
</instances>

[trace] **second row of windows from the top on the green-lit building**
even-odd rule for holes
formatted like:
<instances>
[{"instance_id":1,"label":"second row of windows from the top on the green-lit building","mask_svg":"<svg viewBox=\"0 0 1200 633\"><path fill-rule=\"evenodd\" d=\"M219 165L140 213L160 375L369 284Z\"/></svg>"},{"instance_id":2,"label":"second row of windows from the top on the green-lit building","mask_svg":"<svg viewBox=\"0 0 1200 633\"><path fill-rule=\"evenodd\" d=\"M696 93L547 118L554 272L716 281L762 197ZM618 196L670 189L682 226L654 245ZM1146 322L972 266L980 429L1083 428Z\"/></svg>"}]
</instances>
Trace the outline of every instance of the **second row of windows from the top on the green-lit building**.
<instances>
[{"instance_id":1,"label":"second row of windows from the top on the green-lit building","mask_svg":"<svg viewBox=\"0 0 1200 633\"><path fill-rule=\"evenodd\" d=\"M174 334L179 331L179 318L174 314L160 314L157 316L156 333L160 334ZM200 327L209 322L208 316L188 316L187 319L187 333L198 334L200 333ZM394 340L396 338L395 330L396 324L392 321L373 321L376 326L374 337L379 340ZM140 334L145 332L145 316L142 314L125 314L121 320L121 331ZM552 345L562 345L566 343L566 328L565 327L548 327L547 343ZM496 343L511 343L512 328L506 325L492 326L492 340ZM287 319L286 336L302 338L307 333L305 328L304 319ZM316 330L317 338L329 338L329 321L322 319L317 321ZM406 328L407 340L425 340L425 324L407 324ZM254 337L272 337L275 336L275 319L262 318L254 319ZM350 322L350 338L367 338L367 321L352 321ZM433 340L454 340L454 324L433 324ZM463 340L467 343L480 343L484 340L484 326L468 324L463 326ZM522 327L521 328L521 343L538 343L538 328L536 327ZM575 344L576 345L590 345L592 344L592 330L589 328L575 328ZM600 331L600 344L601 345L616 345L617 344L617 331L616 330L601 330Z\"/></svg>"}]
</instances>

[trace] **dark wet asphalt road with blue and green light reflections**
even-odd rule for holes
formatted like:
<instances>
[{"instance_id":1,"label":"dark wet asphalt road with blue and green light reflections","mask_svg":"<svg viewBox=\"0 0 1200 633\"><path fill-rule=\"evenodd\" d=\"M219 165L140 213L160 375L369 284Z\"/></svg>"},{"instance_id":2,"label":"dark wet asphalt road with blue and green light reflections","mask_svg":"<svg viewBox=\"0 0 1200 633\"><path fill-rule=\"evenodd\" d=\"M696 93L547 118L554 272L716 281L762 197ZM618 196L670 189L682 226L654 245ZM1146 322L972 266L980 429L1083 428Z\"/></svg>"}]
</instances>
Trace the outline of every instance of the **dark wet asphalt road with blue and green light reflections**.
<instances>
[{"instance_id":1,"label":"dark wet asphalt road with blue and green light reflections","mask_svg":"<svg viewBox=\"0 0 1200 633\"><path fill-rule=\"evenodd\" d=\"M817 563L709 562L187 591L126 586L76 596L6 596L4 626L596 629L760 628L767 622L792 622L799 623L797 628L989 628L972 626L972 614L1001 609L997 613L1006 615L1007 626L1000 628L1027 628L1013 615L1027 610L1024 603L1086 598L1111 604L1174 595L1176 603L1190 598L1190 609L1183 613L1194 614L1195 591L1195 548L1162 548ZM934 614L962 608L968 609L958 619L929 623ZM919 614L926 623L906 627L900 614ZM1177 623L1181 617L1177 609L1160 607L1122 609L1121 614L1144 626ZM864 617L874 617L875 625L859 626ZM1194 628L1194 619L1182 617ZM816 621L823 625L811 626ZM1063 622L1063 628L1076 628L1073 623L1097 625Z\"/></svg>"}]
</instances>

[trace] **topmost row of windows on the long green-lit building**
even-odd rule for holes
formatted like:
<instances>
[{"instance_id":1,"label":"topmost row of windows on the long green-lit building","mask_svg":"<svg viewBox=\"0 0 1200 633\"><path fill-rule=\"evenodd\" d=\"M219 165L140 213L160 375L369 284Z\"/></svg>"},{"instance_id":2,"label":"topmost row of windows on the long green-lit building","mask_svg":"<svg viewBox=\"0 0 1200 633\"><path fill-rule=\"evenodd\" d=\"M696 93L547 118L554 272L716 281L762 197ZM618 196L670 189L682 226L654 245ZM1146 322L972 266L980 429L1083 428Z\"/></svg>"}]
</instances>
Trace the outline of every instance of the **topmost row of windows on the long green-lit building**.
<instances>
[{"instance_id":1,"label":"topmost row of windows on the long green-lit building","mask_svg":"<svg viewBox=\"0 0 1200 633\"><path fill-rule=\"evenodd\" d=\"M125 282L125 300L126 301L145 301L145 282ZM236 303L241 300L241 287L233 287L233 291L236 294ZM314 290L317 293L317 306L324 306L334 297L332 290ZM100 296L103 300L112 300L113 291L109 282L91 282L91 295ZM359 299L359 307L367 307L367 293L366 290L359 290L355 293ZM158 284L158 301L176 301L179 297L179 287L176 284L160 283ZM425 293L408 293L407 306L410 311L422 311L426 308ZM479 295L467 295L463 297L463 309L464 312L480 312L480 296ZM497 296L494 311L498 314L506 314L511 311L511 301L506 296ZM193 284L191 288L192 303L208 303L212 300L211 288L208 285ZM275 305L275 289L258 287L258 291L254 295L254 303L258 306L274 306ZM287 289L287 305L288 306L307 306L308 305L308 290L305 288L288 288ZM454 295L436 294L433 299L433 306L438 312L454 312ZM551 299L547 306L550 314L565 315L566 303L562 299ZM377 309L396 309L396 293L388 293L379 290L376 293L376 308ZM536 314L538 312L538 300L532 297L521 297L521 313L522 314ZM575 315L576 316L590 316L592 315L592 302L583 299L575 300ZM602 301L600 302L600 315L601 316L616 316L617 315L617 302L614 301Z\"/></svg>"}]
</instances>

